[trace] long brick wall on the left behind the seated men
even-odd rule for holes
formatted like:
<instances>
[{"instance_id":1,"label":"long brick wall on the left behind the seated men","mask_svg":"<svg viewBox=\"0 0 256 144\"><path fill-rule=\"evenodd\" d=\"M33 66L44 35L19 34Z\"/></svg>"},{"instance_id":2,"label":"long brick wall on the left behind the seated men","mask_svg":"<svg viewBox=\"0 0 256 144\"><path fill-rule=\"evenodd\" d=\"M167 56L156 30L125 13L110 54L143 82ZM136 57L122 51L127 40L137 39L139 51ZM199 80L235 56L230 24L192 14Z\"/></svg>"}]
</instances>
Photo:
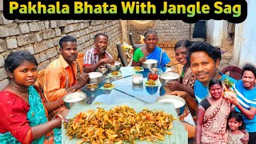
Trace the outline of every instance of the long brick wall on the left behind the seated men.
<instances>
[{"instance_id":1,"label":"long brick wall on the left behind the seated men","mask_svg":"<svg viewBox=\"0 0 256 144\"><path fill-rule=\"evenodd\" d=\"M10 21L0 12L0 90L8 84L3 66L10 51L29 50L39 63L38 70L42 70L58 58L58 41L63 35L77 38L78 51L84 52L93 45L97 32L109 35L107 51L117 60L116 42L122 40L119 20Z\"/></svg>"}]
</instances>

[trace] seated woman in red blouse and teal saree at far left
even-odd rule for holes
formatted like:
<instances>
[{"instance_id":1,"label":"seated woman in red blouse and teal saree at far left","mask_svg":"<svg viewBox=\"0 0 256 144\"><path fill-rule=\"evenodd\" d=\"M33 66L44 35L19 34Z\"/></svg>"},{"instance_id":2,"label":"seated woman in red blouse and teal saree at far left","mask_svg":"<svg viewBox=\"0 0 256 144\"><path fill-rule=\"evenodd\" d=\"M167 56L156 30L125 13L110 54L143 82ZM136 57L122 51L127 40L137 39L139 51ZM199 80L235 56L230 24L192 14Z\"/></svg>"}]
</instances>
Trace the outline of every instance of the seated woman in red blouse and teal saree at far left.
<instances>
[{"instance_id":1,"label":"seated woman in red blouse and teal saree at far left","mask_svg":"<svg viewBox=\"0 0 256 144\"><path fill-rule=\"evenodd\" d=\"M63 101L42 102L33 86L37 67L27 51L11 52L6 58L9 84L0 91L0 143L61 143L60 130L54 128L61 126L63 117L48 121L47 112L62 106Z\"/></svg>"}]
</instances>

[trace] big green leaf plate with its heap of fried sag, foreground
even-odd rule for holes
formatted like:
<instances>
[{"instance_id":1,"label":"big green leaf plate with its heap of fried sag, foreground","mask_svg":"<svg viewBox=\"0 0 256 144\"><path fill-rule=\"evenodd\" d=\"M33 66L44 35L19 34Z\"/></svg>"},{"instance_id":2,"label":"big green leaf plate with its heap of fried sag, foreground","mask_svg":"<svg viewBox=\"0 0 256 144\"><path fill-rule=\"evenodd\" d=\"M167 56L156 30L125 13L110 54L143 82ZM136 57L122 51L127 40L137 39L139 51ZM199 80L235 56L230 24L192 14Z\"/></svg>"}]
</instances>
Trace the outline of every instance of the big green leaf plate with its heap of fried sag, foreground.
<instances>
[{"instance_id":1,"label":"big green leaf plate with its heap of fried sag, foreground","mask_svg":"<svg viewBox=\"0 0 256 144\"><path fill-rule=\"evenodd\" d=\"M167 108L168 107L168 108ZM187 132L174 106L74 106L62 126L64 143L184 143Z\"/></svg>"}]
</instances>

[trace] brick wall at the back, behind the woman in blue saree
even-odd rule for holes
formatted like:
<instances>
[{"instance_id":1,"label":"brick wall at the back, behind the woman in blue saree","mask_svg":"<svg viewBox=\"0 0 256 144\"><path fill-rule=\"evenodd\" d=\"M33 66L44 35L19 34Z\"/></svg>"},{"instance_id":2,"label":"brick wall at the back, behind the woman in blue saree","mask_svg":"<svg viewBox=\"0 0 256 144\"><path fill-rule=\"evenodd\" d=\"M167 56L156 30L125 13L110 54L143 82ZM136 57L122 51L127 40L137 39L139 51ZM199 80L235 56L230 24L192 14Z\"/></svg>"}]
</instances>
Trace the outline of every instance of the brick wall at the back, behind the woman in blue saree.
<instances>
[{"instance_id":1,"label":"brick wall at the back, behind the woman in blue saree","mask_svg":"<svg viewBox=\"0 0 256 144\"><path fill-rule=\"evenodd\" d=\"M138 27L130 24L130 32L134 35L134 41L140 43L140 35L146 30L153 29L158 33L158 46L162 48L174 48L178 40L190 39L190 24L178 20L157 20L154 26ZM191 34L193 34L194 24L191 24ZM192 36L191 36L192 38Z\"/></svg>"}]
</instances>

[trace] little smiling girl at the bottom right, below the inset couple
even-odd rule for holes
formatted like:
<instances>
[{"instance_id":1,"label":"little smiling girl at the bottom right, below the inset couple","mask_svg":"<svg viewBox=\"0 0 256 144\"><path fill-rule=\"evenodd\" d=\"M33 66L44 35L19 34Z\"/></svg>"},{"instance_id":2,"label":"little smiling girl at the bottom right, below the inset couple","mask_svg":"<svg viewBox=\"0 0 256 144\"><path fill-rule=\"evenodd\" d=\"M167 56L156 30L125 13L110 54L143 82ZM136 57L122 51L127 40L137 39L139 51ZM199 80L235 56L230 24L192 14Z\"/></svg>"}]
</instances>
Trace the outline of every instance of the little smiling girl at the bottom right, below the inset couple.
<instances>
[{"instance_id":1,"label":"little smiling girl at the bottom right, below the inset couple","mask_svg":"<svg viewBox=\"0 0 256 144\"><path fill-rule=\"evenodd\" d=\"M227 122L227 144L245 144L245 142L242 142L242 138L245 135L242 130L246 129L246 125L242 120L242 114L237 111L231 111Z\"/></svg>"}]
</instances>

